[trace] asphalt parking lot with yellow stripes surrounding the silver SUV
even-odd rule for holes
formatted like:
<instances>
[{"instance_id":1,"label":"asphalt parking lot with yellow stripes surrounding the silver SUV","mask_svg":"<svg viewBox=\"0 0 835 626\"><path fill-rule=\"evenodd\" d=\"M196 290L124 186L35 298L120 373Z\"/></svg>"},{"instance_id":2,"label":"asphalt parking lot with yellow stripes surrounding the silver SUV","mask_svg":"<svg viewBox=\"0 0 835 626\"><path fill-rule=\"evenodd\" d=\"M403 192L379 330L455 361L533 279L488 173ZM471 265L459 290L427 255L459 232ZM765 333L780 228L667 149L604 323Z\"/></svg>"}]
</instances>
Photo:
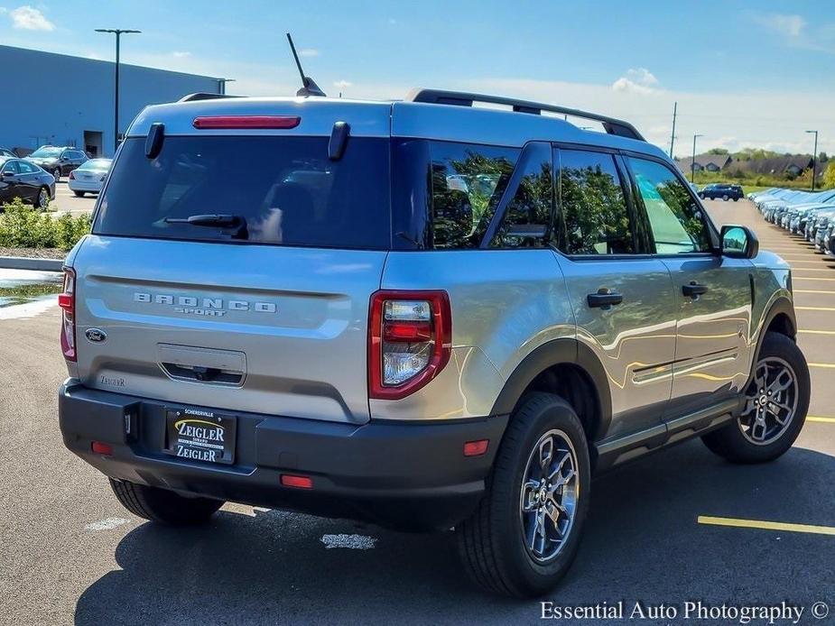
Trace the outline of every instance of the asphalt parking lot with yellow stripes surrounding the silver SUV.
<instances>
[{"instance_id":1,"label":"asphalt parking lot with yellow stripes surrounding the silver SUV","mask_svg":"<svg viewBox=\"0 0 835 626\"><path fill-rule=\"evenodd\" d=\"M598 478L580 555L544 600L622 601L627 616L638 602L679 607L643 623L739 623L684 621L688 601L786 602L804 607L799 623L835 623L835 259L765 224L747 201L706 204L793 266L811 417L771 465L729 465L692 441ZM539 602L470 586L450 533L230 504L198 529L135 518L61 444L58 325L56 307L0 315L0 623L539 621ZM832 614L816 619L814 603Z\"/></svg>"}]
</instances>

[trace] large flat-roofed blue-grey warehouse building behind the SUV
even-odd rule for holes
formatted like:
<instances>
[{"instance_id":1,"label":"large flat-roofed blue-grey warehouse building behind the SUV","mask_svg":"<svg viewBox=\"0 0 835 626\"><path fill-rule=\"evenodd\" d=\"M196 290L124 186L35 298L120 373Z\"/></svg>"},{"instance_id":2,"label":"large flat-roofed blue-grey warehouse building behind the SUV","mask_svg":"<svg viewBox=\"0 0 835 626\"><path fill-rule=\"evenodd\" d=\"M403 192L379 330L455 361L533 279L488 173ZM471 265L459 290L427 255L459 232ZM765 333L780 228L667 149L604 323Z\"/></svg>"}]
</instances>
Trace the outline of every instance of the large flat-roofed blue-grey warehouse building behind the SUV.
<instances>
[{"instance_id":1,"label":"large flat-roofed blue-grey warehouse building behind the SUV","mask_svg":"<svg viewBox=\"0 0 835 626\"><path fill-rule=\"evenodd\" d=\"M28 154L72 145L113 156L114 74L110 61L0 46L0 147ZM147 105L199 91L218 93L217 78L119 65L119 133Z\"/></svg>"}]
</instances>

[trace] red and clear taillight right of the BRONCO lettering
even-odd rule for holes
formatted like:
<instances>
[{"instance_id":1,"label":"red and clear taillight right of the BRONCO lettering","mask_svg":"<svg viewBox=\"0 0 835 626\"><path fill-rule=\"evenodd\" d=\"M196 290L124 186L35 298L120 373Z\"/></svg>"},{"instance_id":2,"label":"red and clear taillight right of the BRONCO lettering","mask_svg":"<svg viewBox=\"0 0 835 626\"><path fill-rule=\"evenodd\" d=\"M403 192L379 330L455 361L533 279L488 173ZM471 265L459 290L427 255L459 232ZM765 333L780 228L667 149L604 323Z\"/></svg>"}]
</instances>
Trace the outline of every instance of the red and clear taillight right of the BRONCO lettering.
<instances>
[{"instance_id":1,"label":"red and clear taillight right of the BRONCO lettering","mask_svg":"<svg viewBox=\"0 0 835 626\"><path fill-rule=\"evenodd\" d=\"M370 398L404 398L449 363L452 313L446 291L377 291L370 313Z\"/></svg>"}]
</instances>

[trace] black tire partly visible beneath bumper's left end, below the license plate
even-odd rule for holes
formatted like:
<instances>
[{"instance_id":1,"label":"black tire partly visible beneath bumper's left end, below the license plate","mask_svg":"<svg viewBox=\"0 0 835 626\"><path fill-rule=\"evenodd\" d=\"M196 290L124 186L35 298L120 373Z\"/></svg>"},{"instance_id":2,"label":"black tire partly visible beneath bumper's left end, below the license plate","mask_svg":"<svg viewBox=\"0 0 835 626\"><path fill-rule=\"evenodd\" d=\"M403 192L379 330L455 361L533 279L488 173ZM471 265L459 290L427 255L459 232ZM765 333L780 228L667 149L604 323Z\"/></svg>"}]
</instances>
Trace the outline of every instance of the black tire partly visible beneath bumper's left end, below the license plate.
<instances>
[{"instance_id":1,"label":"black tire partly visible beneath bumper's left end, below the license plate","mask_svg":"<svg viewBox=\"0 0 835 626\"><path fill-rule=\"evenodd\" d=\"M209 520L222 500L186 498L167 489L110 478L116 498L128 511L145 520L170 526L190 526Z\"/></svg>"}]
</instances>

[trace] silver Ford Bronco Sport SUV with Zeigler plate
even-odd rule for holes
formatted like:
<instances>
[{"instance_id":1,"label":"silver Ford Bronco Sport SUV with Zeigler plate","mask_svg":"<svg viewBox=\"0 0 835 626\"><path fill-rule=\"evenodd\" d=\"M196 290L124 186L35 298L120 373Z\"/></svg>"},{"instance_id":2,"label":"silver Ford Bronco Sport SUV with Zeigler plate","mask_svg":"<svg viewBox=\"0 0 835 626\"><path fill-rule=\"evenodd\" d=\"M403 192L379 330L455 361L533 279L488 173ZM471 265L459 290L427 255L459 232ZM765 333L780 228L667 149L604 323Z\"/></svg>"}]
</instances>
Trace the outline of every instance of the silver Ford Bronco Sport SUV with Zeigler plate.
<instances>
[{"instance_id":1,"label":"silver Ford Bronco Sport SUV with Zeigler plate","mask_svg":"<svg viewBox=\"0 0 835 626\"><path fill-rule=\"evenodd\" d=\"M566 572L594 474L690 437L770 461L809 402L787 264L560 106L150 106L65 273L60 428L129 511L454 527L502 594Z\"/></svg>"}]
</instances>

